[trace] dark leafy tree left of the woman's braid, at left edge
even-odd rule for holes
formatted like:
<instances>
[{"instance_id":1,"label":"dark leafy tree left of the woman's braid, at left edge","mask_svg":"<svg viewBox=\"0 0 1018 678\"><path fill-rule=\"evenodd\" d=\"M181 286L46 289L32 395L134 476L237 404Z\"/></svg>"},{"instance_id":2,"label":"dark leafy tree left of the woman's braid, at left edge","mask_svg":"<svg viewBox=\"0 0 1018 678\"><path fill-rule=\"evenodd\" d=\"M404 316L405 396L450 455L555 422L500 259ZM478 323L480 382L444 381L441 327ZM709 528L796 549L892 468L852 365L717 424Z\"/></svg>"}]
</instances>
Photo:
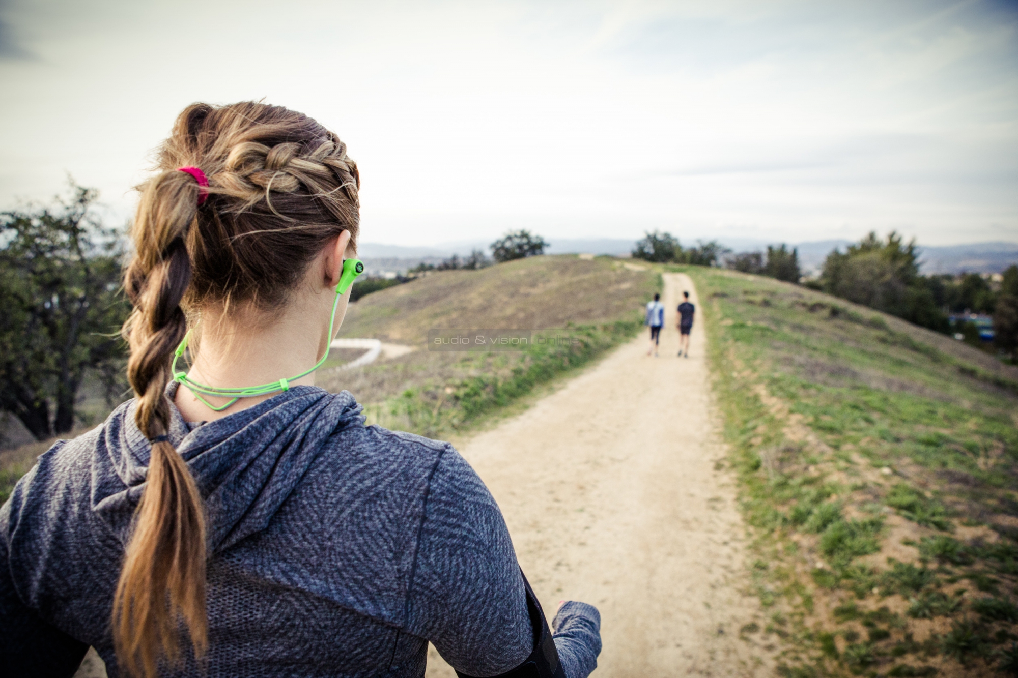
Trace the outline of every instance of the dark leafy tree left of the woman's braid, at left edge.
<instances>
[{"instance_id":1,"label":"dark leafy tree left of the woman's braid, at left edge","mask_svg":"<svg viewBox=\"0 0 1018 678\"><path fill-rule=\"evenodd\" d=\"M40 440L71 430L88 370L112 388L123 352L121 241L95 189L70 192L0 214L0 407Z\"/></svg>"}]
</instances>

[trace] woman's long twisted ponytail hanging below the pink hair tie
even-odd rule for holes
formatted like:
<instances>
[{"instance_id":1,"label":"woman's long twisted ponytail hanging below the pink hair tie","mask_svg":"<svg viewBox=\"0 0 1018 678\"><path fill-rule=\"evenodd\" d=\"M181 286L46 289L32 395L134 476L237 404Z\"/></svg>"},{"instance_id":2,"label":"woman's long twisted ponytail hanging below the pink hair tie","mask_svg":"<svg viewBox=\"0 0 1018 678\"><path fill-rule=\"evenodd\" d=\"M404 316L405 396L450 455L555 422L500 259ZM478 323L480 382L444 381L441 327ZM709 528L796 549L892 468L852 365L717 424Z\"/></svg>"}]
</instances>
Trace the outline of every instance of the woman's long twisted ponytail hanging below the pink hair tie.
<instances>
[{"instance_id":1,"label":"woman's long twisted ponytail hanging below the pink hair tie","mask_svg":"<svg viewBox=\"0 0 1018 678\"><path fill-rule=\"evenodd\" d=\"M134 309L124 325L130 345L127 378L134 420L150 440L152 458L113 601L113 637L120 667L152 678L161 659L180 660L180 622L195 657L208 646L205 605L205 517L186 464L165 438L170 403L170 357L187 330L180 301L191 281L187 232L194 222L197 184L165 171L142 190L132 228L135 252L124 274Z\"/></svg>"}]
</instances>

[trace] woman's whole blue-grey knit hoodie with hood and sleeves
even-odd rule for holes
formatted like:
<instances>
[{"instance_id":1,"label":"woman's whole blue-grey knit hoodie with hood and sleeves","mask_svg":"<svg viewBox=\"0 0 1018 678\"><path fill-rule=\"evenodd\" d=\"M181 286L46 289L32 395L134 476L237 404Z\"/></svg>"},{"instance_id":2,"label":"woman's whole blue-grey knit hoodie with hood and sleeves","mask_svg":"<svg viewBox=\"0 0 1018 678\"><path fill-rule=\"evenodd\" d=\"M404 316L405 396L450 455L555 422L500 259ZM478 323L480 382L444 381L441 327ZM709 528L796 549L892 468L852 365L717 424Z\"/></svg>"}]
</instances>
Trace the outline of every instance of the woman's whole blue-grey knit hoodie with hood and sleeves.
<instances>
[{"instance_id":1,"label":"woman's whole blue-grey knit hoodie with hood and sleeves","mask_svg":"<svg viewBox=\"0 0 1018 678\"><path fill-rule=\"evenodd\" d=\"M530 653L512 542L480 478L449 444L364 427L360 410L306 386L197 427L173 409L208 512L210 651L165 675L422 676L430 640L491 676ZM0 509L8 667L71 675L94 645L117 676L110 611L151 452L133 411L54 445ZM589 674L598 611L567 603L555 628L566 675Z\"/></svg>"}]
</instances>

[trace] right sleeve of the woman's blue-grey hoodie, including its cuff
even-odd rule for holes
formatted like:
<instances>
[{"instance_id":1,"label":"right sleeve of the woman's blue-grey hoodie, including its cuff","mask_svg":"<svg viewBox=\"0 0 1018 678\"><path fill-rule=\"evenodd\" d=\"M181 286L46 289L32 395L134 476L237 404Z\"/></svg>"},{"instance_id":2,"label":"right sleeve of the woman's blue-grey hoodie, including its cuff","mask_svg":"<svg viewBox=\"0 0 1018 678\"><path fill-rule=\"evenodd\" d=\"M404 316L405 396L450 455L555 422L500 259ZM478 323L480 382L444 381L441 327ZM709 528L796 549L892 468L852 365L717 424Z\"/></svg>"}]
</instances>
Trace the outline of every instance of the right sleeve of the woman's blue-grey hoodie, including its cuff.
<instances>
[{"instance_id":1,"label":"right sleeve of the woman's blue-grey hoodie, including its cuff","mask_svg":"<svg viewBox=\"0 0 1018 678\"><path fill-rule=\"evenodd\" d=\"M560 613L555 644L568 678L585 678L601 651L598 611ZM495 676L533 649L526 594L502 512L451 447L432 475L408 599L408 620L457 671ZM570 608L571 609L571 608Z\"/></svg>"}]
</instances>

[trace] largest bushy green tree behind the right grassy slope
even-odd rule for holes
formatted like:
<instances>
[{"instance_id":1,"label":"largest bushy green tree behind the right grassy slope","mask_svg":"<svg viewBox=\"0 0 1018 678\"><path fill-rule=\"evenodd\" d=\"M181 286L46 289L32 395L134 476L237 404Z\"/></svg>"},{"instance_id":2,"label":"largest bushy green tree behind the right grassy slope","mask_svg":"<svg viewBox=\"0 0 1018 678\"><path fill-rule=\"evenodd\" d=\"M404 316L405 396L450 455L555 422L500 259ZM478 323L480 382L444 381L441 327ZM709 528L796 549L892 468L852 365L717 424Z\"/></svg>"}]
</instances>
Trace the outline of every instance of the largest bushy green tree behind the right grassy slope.
<instances>
[{"instance_id":1,"label":"largest bushy green tree behind the right grassy slope","mask_svg":"<svg viewBox=\"0 0 1018 678\"><path fill-rule=\"evenodd\" d=\"M895 232L881 240L869 233L845 253L837 249L824 262L821 285L826 292L941 332L947 317L919 276L915 240L903 242Z\"/></svg>"}]
</instances>

